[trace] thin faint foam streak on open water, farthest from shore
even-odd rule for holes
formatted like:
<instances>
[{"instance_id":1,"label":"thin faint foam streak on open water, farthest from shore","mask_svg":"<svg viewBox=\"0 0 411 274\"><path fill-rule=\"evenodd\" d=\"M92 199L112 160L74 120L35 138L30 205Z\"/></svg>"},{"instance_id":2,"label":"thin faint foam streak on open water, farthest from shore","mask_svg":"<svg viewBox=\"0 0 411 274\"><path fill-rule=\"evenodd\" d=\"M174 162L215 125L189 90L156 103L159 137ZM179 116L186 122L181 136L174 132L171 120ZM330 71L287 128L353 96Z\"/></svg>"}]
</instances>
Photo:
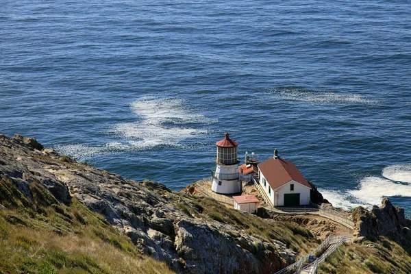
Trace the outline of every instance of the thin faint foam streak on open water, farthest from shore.
<instances>
[{"instance_id":1,"label":"thin faint foam streak on open water, farthest from shore","mask_svg":"<svg viewBox=\"0 0 411 274\"><path fill-rule=\"evenodd\" d=\"M354 104L367 104L374 105L379 103L378 100L370 99L362 95L340 95L335 92L329 91L316 91L316 90L298 90L295 88L282 88L279 90L270 90L272 96L286 100L286 101L305 101L308 103L354 103Z\"/></svg>"}]
</instances>

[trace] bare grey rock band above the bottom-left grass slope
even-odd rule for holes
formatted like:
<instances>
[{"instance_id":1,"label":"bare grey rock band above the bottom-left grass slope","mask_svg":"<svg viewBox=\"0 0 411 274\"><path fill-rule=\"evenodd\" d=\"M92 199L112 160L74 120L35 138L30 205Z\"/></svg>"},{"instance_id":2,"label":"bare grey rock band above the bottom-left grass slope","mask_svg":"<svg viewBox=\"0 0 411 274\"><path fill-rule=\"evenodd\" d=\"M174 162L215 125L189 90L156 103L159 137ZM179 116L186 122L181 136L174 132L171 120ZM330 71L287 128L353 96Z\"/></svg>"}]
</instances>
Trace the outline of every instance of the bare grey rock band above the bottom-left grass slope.
<instances>
[{"instance_id":1,"label":"bare grey rock band above the bottom-left grass slope","mask_svg":"<svg viewBox=\"0 0 411 274\"><path fill-rule=\"evenodd\" d=\"M194 207L188 195L77 163L43 149L33 138L0 135L0 160L0 179L7 178L29 201L34 181L47 186L61 203L75 196L129 236L140 251L179 273L274 273L284 267L284 258L295 256L275 242L179 210L176 203Z\"/></svg>"}]
</instances>

